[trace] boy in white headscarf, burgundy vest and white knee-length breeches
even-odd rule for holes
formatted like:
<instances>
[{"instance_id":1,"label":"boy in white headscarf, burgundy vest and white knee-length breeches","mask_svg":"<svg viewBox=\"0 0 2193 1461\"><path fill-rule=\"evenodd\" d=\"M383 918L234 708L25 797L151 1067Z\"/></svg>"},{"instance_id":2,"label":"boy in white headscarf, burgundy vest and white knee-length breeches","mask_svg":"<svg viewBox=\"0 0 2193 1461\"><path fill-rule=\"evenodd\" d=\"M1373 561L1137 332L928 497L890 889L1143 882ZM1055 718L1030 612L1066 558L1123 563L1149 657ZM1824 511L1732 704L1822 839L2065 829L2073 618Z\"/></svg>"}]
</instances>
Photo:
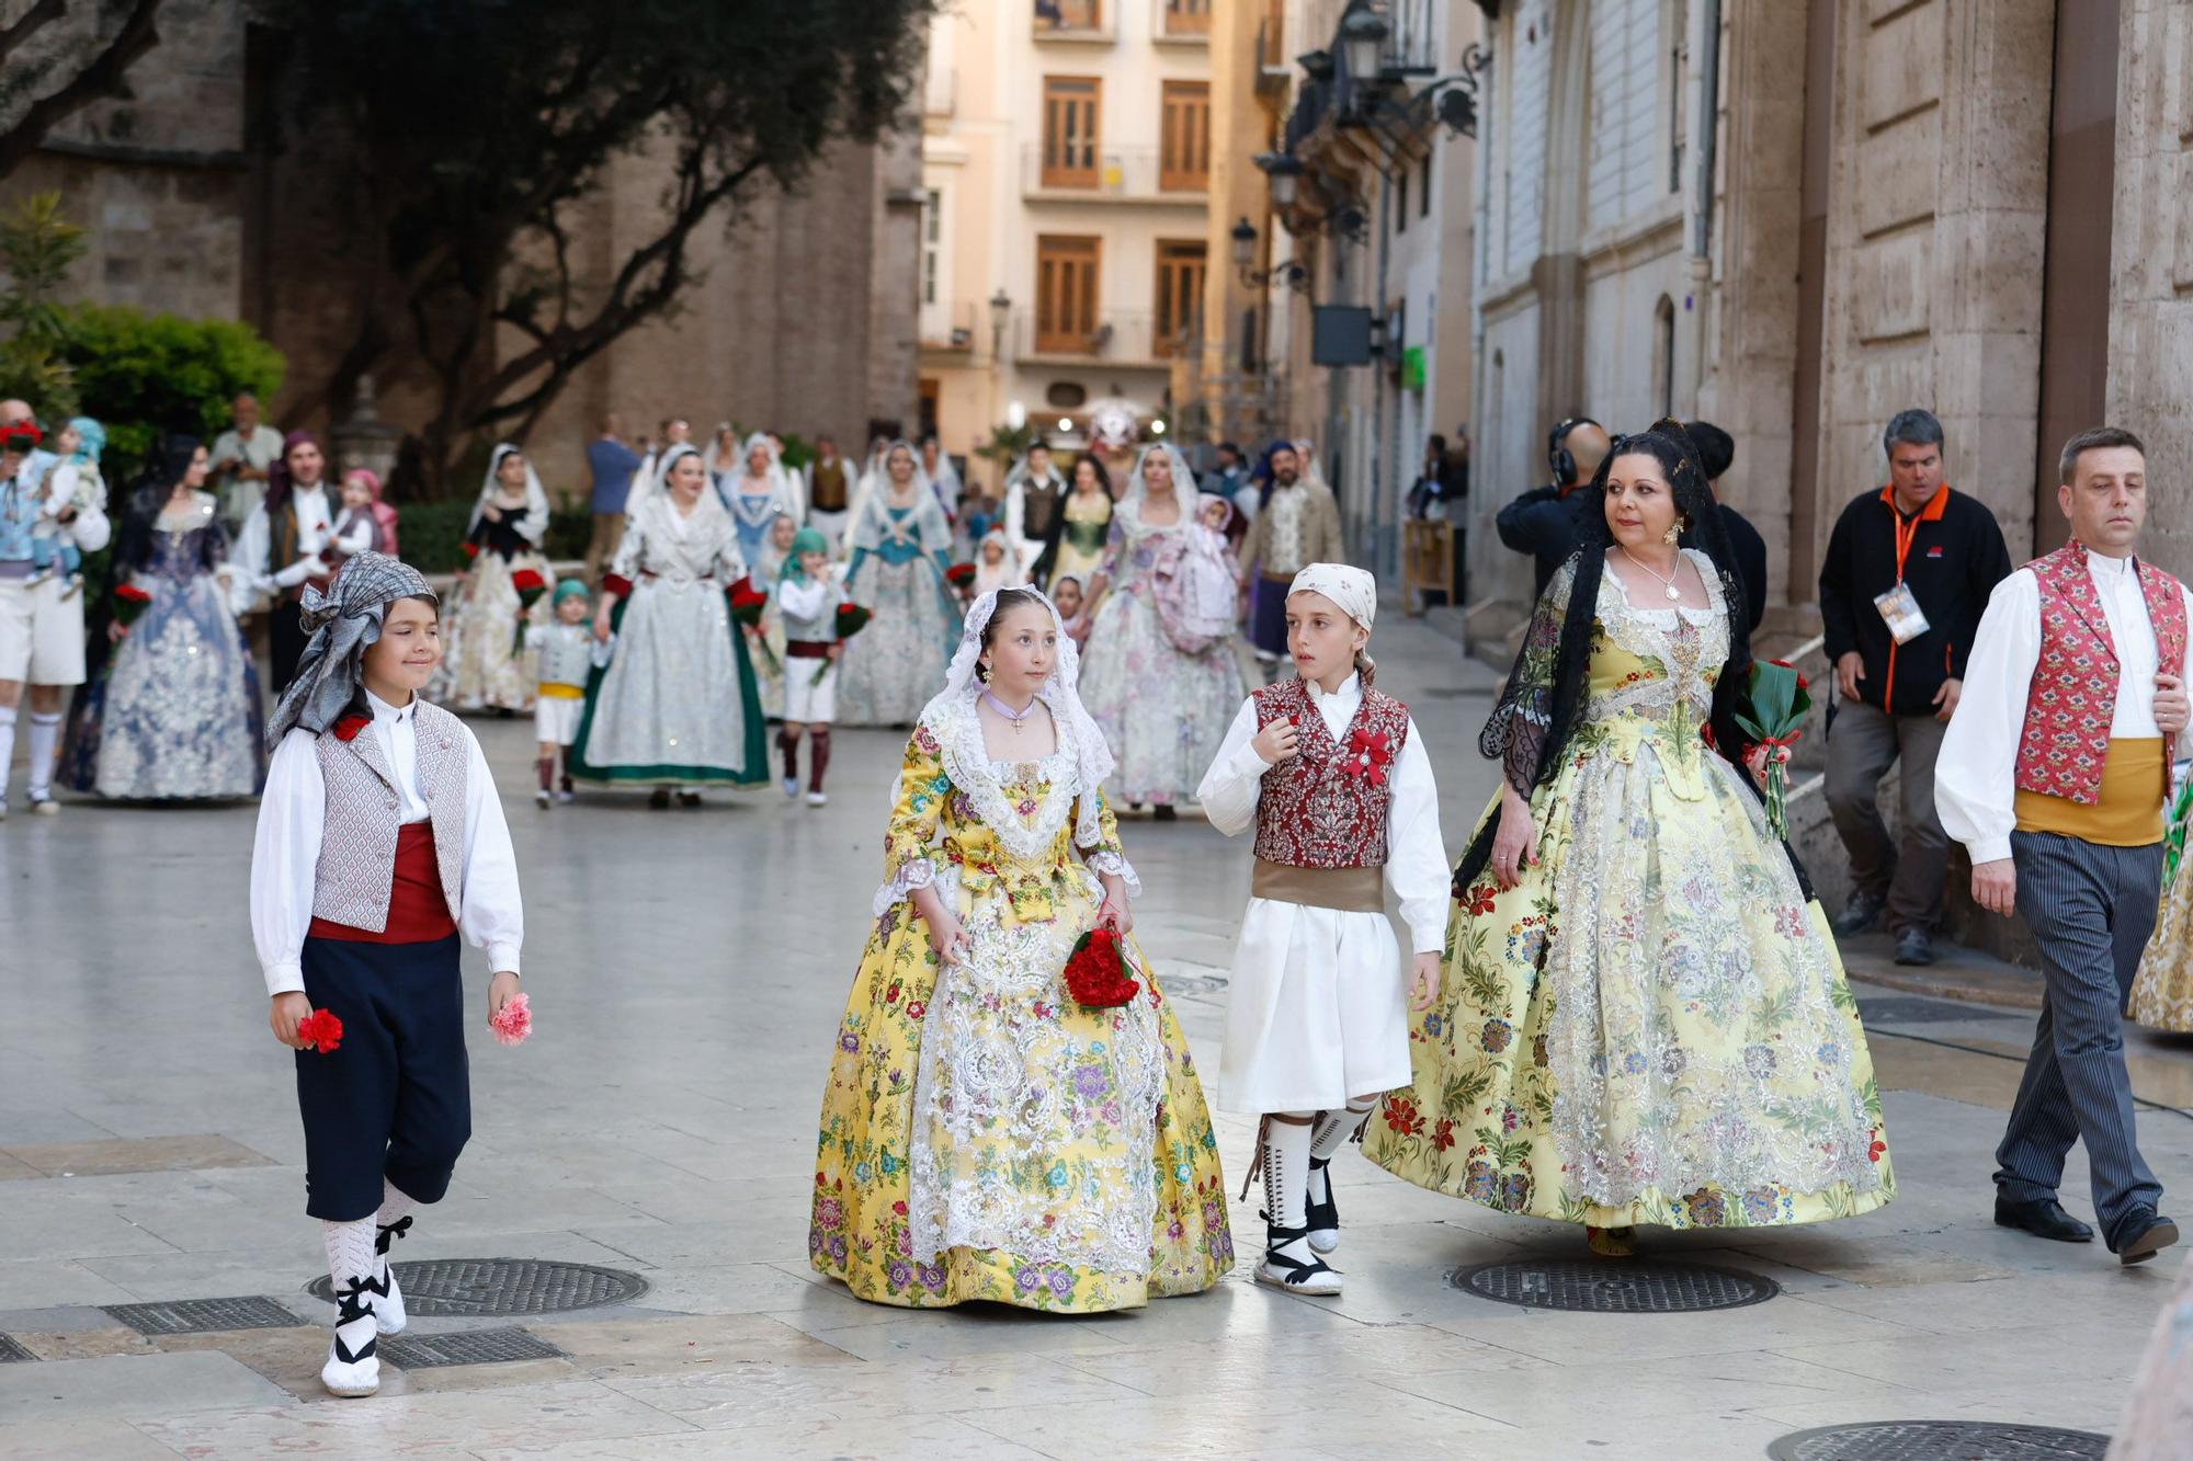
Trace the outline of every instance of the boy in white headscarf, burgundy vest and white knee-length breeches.
<instances>
[{"instance_id":1,"label":"boy in white headscarf, burgundy vest and white knee-length breeches","mask_svg":"<svg viewBox=\"0 0 2193 1461\"><path fill-rule=\"evenodd\" d=\"M1371 687L1375 614L1377 584L1362 568L1294 575L1296 673L1248 698L1197 790L1213 827L1257 831L1219 1108L1263 1117L1257 1281L1296 1294L1340 1292L1320 1257L1340 1244L1329 1167L1379 1095L1410 1079L1386 888L1414 939L1419 1011L1439 996L1447 939L1439 788L1408 706Z\"/></svg>"}]
</instances>

